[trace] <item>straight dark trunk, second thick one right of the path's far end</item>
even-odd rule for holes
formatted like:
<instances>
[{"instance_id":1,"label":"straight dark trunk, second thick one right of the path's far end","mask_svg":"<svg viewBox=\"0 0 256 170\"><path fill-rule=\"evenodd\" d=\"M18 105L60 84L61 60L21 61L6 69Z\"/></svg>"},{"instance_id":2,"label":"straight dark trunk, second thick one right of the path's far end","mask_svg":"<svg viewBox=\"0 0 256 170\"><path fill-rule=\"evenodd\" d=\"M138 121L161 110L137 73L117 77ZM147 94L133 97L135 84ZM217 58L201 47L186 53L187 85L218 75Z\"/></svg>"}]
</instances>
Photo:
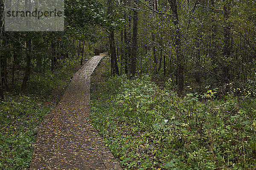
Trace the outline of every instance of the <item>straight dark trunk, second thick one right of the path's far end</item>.
<instances>
[{"instance_id":1,"label":"straight dark trunk, second thick one right of the path's far end","mask_svg":"<svg viewBox=\"0 0 256 170\"><path fill-rule=\"evenodd\" d=\"M133 10L133 35L131 50L131 77L135 76L137 62L138 11Z\"/></svg>"}]
</instances>

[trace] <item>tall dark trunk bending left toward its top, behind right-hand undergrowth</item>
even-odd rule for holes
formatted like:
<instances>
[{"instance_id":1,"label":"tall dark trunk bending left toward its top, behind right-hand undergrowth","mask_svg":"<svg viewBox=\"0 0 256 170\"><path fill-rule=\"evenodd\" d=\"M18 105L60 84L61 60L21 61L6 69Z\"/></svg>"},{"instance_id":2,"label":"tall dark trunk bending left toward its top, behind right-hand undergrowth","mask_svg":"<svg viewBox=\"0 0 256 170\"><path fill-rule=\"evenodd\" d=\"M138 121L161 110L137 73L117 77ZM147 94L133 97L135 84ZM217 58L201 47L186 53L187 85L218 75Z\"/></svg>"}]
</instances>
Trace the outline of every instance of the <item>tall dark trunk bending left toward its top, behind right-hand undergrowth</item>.
<instances>
[{"instance_id":1,"label":"tall dark trunk bending left toward its top, behind right-hand undergrowth","mask_svg":"<svg viewBox=\"0 0 256 170\"><path fill-rule=\"evenodd\" d=\"M176 0L168 0L171 10L172 10L172 22L175 26L175 49L177 57L177 92L179 96L183 95L184 91L184 54L181 50L181 40L180 40L180 27L179 27L179 17L177 11Z\"/></svg>"}]
</instances>

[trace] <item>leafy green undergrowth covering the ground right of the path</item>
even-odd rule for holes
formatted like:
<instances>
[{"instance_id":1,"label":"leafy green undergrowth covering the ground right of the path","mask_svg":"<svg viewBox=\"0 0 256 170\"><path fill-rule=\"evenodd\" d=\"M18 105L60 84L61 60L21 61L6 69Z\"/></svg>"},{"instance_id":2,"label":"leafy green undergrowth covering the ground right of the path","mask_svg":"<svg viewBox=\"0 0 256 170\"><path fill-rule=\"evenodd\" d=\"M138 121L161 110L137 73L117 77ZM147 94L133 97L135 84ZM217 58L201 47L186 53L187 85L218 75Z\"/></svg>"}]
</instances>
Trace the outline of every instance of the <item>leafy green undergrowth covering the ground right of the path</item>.
<instances>
[{"instance_id":1,"label":"leafy green undergrowth covering the ground right of the path","mask_svg":"<svg viewBox=\"0 0 256 170\"><path fill-rule=\"evenodd\" d=\"M92 84L91 119L126 170L255 170L256 99L183 98L145 76ZM97 86L97 89L93 89Z\"/></svg>"}]
</instances>

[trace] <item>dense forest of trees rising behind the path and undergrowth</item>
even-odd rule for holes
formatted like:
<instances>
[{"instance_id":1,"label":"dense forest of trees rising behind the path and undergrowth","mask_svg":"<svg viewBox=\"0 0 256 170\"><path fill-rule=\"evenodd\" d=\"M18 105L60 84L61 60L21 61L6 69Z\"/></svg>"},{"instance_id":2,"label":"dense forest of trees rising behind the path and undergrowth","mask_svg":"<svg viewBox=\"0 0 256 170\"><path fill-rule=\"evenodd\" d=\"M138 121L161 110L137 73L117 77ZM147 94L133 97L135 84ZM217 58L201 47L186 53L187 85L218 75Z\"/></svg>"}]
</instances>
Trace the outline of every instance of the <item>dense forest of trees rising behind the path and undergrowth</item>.
<instances>
[{"instance_id":1,"label":"dense forest of trees rising behind the path and undergrowth","mask_svg":"<svg viewBox=\"0 0 256 170\"><path fill-rule=\"evenodd\" d=\"M3 1L1 6L3 11ZM181 94L187 86L201 91L229 83L243 91L255 79L253 1L66 1L65 14L63 33L2 29L4 91L17 79L25 91L31 70L44 73L65 60L83 61L94 48L110 51L114 75L160 73Z\"/></svg>"}]
</instances>

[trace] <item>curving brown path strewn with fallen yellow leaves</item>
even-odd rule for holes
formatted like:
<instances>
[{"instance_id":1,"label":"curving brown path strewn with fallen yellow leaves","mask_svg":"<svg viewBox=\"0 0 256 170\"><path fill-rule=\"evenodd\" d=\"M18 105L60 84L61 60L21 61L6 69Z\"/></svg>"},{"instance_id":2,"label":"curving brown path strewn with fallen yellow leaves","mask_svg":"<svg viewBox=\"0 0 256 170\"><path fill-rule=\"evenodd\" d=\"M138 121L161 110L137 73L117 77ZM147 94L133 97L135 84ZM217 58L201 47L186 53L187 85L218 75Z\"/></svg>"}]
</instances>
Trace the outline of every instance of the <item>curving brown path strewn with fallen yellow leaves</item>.
<instances>
[{"instance_id":1,"label":"curving brown path strewn with fallen yellow leaves","mask_svg":"<svg viewBox=\"0 0 256 170\"><path fill-rule=\"evenodd\" d=\"M90 75L103 57L81 67L38 127L31 170L122 170L89 119Z\"/></svg>"}]
</instances>

